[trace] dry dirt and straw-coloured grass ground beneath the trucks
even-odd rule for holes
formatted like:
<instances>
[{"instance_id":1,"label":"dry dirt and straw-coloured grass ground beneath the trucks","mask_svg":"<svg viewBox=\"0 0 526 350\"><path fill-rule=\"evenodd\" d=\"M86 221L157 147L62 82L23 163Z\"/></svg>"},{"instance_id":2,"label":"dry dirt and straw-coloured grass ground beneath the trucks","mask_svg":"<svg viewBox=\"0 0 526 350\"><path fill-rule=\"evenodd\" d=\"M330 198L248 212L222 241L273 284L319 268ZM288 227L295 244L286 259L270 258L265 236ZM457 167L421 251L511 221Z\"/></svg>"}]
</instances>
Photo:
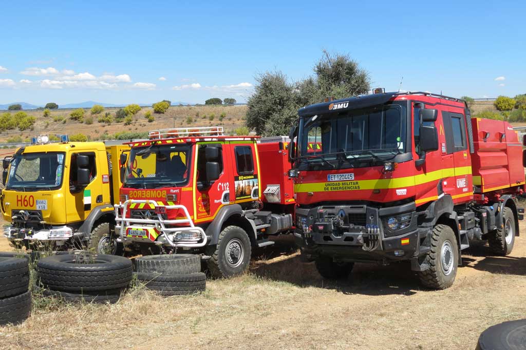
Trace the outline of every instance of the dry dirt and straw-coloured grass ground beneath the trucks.
<instances>
[{"instance_id":1,"label":"dry dirt and straw-coloured grass ground beneath the trucks","mask_svg":"<svg viewBox=\"0 0 526 350\"><path fill-rule=\"evenodd\" d=\"M23 325L0 327L0 348L474 349L488 326L526 317L524 238L507 257L470 248L445 291L422 289L407 263L358 264L347 281L328 283L299 261L290 236L276 242L254 252L249 274L209 281L203 294L38 302Z\"/></svg>"}]
</instances>

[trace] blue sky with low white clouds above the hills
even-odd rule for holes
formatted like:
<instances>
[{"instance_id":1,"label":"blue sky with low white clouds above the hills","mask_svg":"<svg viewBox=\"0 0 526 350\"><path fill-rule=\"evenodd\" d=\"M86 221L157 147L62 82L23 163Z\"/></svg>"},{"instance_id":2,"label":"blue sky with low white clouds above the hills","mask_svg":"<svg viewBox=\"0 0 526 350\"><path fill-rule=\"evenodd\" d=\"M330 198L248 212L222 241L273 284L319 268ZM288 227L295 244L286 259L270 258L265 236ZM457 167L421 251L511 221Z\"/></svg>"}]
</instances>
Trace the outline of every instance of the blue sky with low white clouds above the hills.
<instances>
[{"instance_id":1,"label":"blue sky with low white clouds above the hills","mask_svg":"<svg viewBox=\"0 0 526 350\"><path fill-rule=\"evenodd\" d=\"M373 86L526 93L524 1L4 2L0 104L245 101L254 77L349 54Z\"/></svg>"}]
</instances>

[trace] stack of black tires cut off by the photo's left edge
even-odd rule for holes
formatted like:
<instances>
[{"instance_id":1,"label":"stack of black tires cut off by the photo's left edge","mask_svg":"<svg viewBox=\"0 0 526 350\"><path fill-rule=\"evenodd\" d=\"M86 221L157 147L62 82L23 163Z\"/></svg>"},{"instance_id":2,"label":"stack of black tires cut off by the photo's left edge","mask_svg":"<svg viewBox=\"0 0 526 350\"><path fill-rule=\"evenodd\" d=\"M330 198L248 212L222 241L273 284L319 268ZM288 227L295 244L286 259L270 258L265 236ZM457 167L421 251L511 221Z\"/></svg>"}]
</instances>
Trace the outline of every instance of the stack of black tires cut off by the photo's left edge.
<instances>
[{"instance_id":1,"label":"stack of black tires cut off by the photo's left edge","mask_svg":"<svg viewBox=\"0 0 526 350\"><path fill-rule=\"evenodd\" d=\"M29 260L0 253L0 325L19 324L31 314Z\"/></svg>"}]
</instances>

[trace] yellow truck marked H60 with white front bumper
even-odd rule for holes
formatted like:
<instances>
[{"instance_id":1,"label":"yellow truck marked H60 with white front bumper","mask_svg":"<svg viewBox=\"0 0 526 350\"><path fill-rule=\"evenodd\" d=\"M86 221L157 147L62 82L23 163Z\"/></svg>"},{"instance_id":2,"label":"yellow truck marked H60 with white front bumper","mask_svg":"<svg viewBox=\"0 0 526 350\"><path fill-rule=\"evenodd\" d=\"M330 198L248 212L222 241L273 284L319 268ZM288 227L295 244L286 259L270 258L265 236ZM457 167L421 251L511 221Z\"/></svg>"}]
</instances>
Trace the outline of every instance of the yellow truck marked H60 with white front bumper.
<instances>
[{"instance_id":1,"label":"yellow truck marked H60 with white front bumper","mask_svg":"<svg viewBox=\"0 0 526 350\"><path fill-rule=\"evenodd\" d=\"M50 143L41 136L17 149L3 161L0 209L10 223L4 235L17 248L115 253L109 230L120 179L111 157L118 160L117 153L127 148L69 142L67 136Z\"/></svg>"}]
</instances>

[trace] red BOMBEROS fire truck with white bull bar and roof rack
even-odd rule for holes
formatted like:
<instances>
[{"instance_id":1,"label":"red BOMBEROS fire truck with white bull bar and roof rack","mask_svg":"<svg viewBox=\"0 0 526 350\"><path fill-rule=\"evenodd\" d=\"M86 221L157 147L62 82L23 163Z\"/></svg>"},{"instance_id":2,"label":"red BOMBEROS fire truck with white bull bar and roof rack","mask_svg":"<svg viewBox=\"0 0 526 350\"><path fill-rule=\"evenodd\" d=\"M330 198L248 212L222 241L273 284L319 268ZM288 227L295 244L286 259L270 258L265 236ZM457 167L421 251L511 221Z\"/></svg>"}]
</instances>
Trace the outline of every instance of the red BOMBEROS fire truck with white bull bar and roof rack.
<instances>
[{"instance_id":1,"label":"red BOMBEROS fire truck with white bull bar and roof rack","mask_svg":"<svg viewBox=\"0 0 526 350\"><path fill-rule=\"evenodd\" d=\"M292 228L285 142L224 136L222 127L149 136L121 159L116 235L125 250L198 253L214 275L233 276L248 267L251 248Z\"/></svg>"}]
</instances>

